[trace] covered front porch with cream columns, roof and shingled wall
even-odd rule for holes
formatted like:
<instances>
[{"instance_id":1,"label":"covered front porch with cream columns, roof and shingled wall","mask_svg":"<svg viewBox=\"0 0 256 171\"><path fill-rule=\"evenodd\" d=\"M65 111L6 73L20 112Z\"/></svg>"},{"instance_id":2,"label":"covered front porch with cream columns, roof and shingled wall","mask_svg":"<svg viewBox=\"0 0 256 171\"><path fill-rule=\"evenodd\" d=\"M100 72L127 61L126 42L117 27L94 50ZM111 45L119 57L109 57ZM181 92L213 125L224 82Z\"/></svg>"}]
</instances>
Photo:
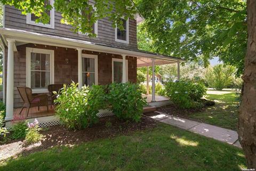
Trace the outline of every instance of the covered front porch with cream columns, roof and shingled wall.
<instances>
[{"instance_id":1,"label":"covered front porch with cream columns, roof and shingled wall","mask_svg":"<svg viewBox=\"0 0 256 171\"><path fill-rule=\"evenodd\" d=\"M54 56L49 60L49 82L47 84L68 84L73 80L82 87L89 83L89 75L93 76L93 84L106 85L118 80L119 82L136 83L137 67L152 66L153 75L155 74L156 64L179 63L182 59L163 56L143 51L131 51L123 48L98 45L83 40L67 39L57 36L36 34L34 32L0 29L4 49L4 102L6 103L6 121L15 118L27 119L55 115L54 107L49 111L46 107L29 109L26 115L26 108L19 115L22 107L22 99L18 92L18 86L32 88L33 93L49 94L47 86L42 89L33 89L31 86L35 80L31 79L31 56L32 54L48 54ZM38 51L38 49L41 49ZM29 55L28 55L29 53ZM41 55L42 56L42 55ZM84 71L83 58L94 59L93 70ZM114 64L121 68L121 74L114 73ZM47 64L47 63L46 63ZM46 65L45 64L45 65ZM46 70L46 69L45 69ZM43 70L43 71L45 71ZM46 70L47 71L47 70ZM89 73L89 74L88 74ZM7 75L7 76L6 76ZM36 77L35 77L36 78ZM45 79L46 77L44 77ZM41 81L39 82L41 84ZM152 95L147 95L147 101L158 102L167 100L164 97L156 96L155 82L153 77Z\"/></svg>"}]
</instances>

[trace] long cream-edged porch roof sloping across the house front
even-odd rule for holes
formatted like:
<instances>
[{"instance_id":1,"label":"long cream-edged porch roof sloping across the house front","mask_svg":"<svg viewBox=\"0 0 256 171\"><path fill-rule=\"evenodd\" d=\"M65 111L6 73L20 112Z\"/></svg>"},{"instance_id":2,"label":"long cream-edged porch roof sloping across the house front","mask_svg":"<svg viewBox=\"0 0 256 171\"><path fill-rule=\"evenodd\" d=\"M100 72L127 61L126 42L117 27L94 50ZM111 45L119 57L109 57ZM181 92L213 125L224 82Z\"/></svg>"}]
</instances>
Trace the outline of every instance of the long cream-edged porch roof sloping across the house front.
<instances>
[{"instance_id":1,"label":"long cream-edged porch roof sloping across the house front","mask_svg":"<svg viewBox=\"0 0 256 171\"><path fill-rule=\"evenodd\" d=\"M113 54L125 54L129 56L134 56L138 58L138 67L145 67L151 65L150 59L156 59L156 64L167 64L167 63L177 63L180 61L186 61L181 58L176 58L173 56L167 56L157 53L145 52L140 50L130 50L123 47L114 47L101 43L94 43L85 40L71 39L59 36L39 34L36 32L30 32L25 30L17 30L10 28L0 29L1 39L3 46L7 46L6 39L14 39L16 45L21 43L36 43L45 44L52 46L68 47L68 48L83 48L83 50L88 51L98 51ZM15 47L14 47L15 50Z\"/></svg>"}]
</instances>

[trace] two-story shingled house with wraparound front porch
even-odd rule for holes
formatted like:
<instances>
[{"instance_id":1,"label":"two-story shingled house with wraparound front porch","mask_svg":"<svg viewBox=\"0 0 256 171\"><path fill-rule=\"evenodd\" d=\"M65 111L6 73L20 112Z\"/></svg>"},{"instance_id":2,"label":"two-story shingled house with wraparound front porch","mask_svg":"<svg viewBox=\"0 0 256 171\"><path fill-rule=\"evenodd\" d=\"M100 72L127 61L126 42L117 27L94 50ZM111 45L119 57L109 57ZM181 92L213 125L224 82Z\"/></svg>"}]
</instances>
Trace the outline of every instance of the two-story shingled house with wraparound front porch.
<instances>
[{"instance_id":1,"label":"two-story shingled house with wraparound front porch","mask_svg":"<svg viewBox=\"0 0 256 171\"><path fill-rule=\"evenodd\" d=\"M49 93L49 85L71 81L79 87L136 83L137 67L183 61L138 50L135 16L124 21L124 30L113 28L107 18L98 20L93 29L97 37L91 38L61 23L61 13L54 9L49 15L49 23L36 23L35 15L23 15L13 6L4 6L0 45L4 51L6 120L12 120L24 102L17 86L30 87L40 94Z\"/></svg>"}]
</instances>

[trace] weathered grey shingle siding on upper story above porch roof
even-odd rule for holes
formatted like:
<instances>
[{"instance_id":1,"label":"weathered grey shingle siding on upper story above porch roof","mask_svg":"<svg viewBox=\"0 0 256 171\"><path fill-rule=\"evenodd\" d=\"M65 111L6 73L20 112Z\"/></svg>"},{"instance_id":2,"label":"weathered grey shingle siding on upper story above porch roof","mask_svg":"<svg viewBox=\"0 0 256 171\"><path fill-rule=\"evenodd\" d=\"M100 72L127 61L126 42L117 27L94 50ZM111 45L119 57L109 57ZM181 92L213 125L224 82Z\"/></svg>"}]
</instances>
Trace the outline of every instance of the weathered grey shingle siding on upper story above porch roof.
<instances>
[{"instance_id":1,"label":"weathered grey shingle siding on upper story above porch roof","mask_svg":"<svg viewBox=\"0 0 256 171\"><path fill-rule=\"evenodd\" d=\"M134 19L129 19L129 44L115 41L115 28L112 27L108 18L98 21L98 36L90 38L82 34L76 34L71 31L71 26L61 24L61 13L55 11L54 29L28 25L26 15L22 15L18 9L13 6L5 5L5 28L20 29L31 32L38 32L46 35L67 37L90 42L103 43L115 47L125 47L131 50L137 50L137 23Z\"/></svg>"}]
</instances>

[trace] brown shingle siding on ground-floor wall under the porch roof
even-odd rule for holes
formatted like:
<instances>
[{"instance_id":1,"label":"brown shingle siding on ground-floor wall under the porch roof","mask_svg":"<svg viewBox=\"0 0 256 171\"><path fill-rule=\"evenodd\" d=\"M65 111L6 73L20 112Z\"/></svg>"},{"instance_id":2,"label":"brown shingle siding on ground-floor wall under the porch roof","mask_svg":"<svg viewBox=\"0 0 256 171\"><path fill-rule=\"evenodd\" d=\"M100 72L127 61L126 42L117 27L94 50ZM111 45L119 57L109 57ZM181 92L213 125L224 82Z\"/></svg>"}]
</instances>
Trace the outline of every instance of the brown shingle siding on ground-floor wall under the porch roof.
<instances>
[{"instance_id":1,"label":"brown shingle siding on ground-floor wall under the porch roof","mask_svg":"<svg viewBox=\"0 0 256 171\"><path fill-rule=\"evenodd\" d=\"M77 82L78 57L75 49L64 47L56 48L55 46L45 47L45 45L38 44L17 46L18 52L14 53L14 108L21 107L23 104L17 86L26 86L26 47L54 50L54 84L71 83L71 80ZM7 49L5 52L7 52ZM83 51L83 53L98 55L99 85L112 83L112 58L121 59L121 55L91 51ZM137 59L131 56L126 56L126 59L128 60L129 82L136 83ZM5 61L5 66L7 66L7 60Z\"/></svg>"}]
</instances>

